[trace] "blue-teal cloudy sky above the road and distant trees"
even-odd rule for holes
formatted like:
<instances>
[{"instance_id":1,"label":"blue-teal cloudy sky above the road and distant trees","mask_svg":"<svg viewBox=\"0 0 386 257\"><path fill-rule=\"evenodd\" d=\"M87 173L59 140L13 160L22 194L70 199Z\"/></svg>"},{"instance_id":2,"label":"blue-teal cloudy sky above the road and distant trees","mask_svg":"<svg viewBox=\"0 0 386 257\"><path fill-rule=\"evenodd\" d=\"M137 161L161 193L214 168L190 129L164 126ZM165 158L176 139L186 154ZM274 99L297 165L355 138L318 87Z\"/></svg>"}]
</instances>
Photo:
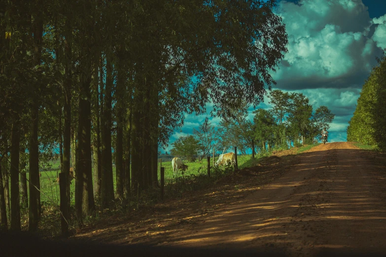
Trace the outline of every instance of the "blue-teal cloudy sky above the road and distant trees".
<instances>
[{"instance_id":1,"label":"blue-teal cloudy sky above the road and distant trees","mask_svg":"<svg viewBox=\"0 0 386 257\"><path fill-rule=\"evenodd\" d=\"M386 48L386 0L281 0L275 13L286 25L289 43L279 69L271 73L277 82L272 89L303 93L314 109L326 105L335 114L329 142L346 141L360 90ZM268 98L256 108L270 108ZM215 125L220 121L209 114L185 115L170 144L206 117Z\"/></svg>"}]
</instances>

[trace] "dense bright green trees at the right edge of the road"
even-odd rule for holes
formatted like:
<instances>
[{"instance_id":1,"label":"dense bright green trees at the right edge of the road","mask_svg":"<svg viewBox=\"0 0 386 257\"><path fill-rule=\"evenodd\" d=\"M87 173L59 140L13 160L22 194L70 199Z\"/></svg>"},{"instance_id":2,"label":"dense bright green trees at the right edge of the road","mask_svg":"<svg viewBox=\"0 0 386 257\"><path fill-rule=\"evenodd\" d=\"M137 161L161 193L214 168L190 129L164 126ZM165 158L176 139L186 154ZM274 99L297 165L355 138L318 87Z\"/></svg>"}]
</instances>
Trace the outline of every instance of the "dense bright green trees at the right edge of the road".
<instances>
[{"instance_id":1,"label":"dense bright green trees at the right edge of the road","mask_svg":"<svg viewBox=\"0 0 386 257\"><path fill-rule=\"evenodd\" d=\"M349 126L347 140L386 150L386 56L378 59L362 87Z\"/></svg>"}]
</instances>

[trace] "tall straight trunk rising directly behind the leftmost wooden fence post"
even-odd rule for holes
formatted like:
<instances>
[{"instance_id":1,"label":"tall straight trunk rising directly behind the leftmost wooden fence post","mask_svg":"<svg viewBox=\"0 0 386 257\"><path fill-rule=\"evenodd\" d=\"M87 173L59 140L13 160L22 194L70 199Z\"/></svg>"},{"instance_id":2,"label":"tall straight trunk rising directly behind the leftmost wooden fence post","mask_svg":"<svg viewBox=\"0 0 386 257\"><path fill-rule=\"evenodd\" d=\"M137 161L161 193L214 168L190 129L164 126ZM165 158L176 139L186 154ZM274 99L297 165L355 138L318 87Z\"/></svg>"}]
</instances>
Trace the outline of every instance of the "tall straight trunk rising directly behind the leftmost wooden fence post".
<instances>
[{"instance_id":1,"label":"tall straight trunk rising directly behind the leftmost wooden fence post","mask_svg":"<svg viewBox=\"0 0 386 257\"><path fill-rule=\"evenodd\" d=\"M64 81L64 126L63 126L63 164L62 172L66 173L67 177L70 177L70 159L72 159L72 167L74 167L74 158L72 155L71 158L71 66L72 66L72 53L71 53L71 41L72 41L72 32L70 21L65 22L65 81ZM75 134L75 133L74 133ZM73 147L72 147L73 148ZM74 150L74 149L72 149ZM75 172L76 174L76 172ZM68 180L70 181L70 180ZM70 210L70 183L67 183L66 187L66 196L68 201L68 209ZM70 215L68 216L70 218Z\"/></svg>"}]
</instances>

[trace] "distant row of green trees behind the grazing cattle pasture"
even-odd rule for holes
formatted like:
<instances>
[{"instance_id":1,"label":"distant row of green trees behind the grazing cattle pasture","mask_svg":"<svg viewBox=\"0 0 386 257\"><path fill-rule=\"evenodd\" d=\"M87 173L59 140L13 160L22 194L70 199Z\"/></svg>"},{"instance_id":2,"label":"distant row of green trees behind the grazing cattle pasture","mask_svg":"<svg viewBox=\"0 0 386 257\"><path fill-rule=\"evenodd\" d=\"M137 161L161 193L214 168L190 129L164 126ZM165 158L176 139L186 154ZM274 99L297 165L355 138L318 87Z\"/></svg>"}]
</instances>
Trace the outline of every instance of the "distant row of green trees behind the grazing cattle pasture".
<instances>
[{"instance_id":1,"label":"distant row of green trees behind the grazing cattle pasture","mask_svg":"<svg viewBox=\"0 0 386 257\"><path fill-rule=\"evenodd\" d=\"M193 129L193 135L178 138L171 153L192 161L197 154L202 158L213 150L222 153L234 146L246 154L252 142L255 152L312 144L320 140L322 128L330 128L335 117L326 106L314 111L302 93L273 90L268 97L272 108L253 111L253 120L248 118L249 105L244 104L244 108L232 111L235 119L224 118L219 126L206 121Z\"/></svg>"}]
</instances>

